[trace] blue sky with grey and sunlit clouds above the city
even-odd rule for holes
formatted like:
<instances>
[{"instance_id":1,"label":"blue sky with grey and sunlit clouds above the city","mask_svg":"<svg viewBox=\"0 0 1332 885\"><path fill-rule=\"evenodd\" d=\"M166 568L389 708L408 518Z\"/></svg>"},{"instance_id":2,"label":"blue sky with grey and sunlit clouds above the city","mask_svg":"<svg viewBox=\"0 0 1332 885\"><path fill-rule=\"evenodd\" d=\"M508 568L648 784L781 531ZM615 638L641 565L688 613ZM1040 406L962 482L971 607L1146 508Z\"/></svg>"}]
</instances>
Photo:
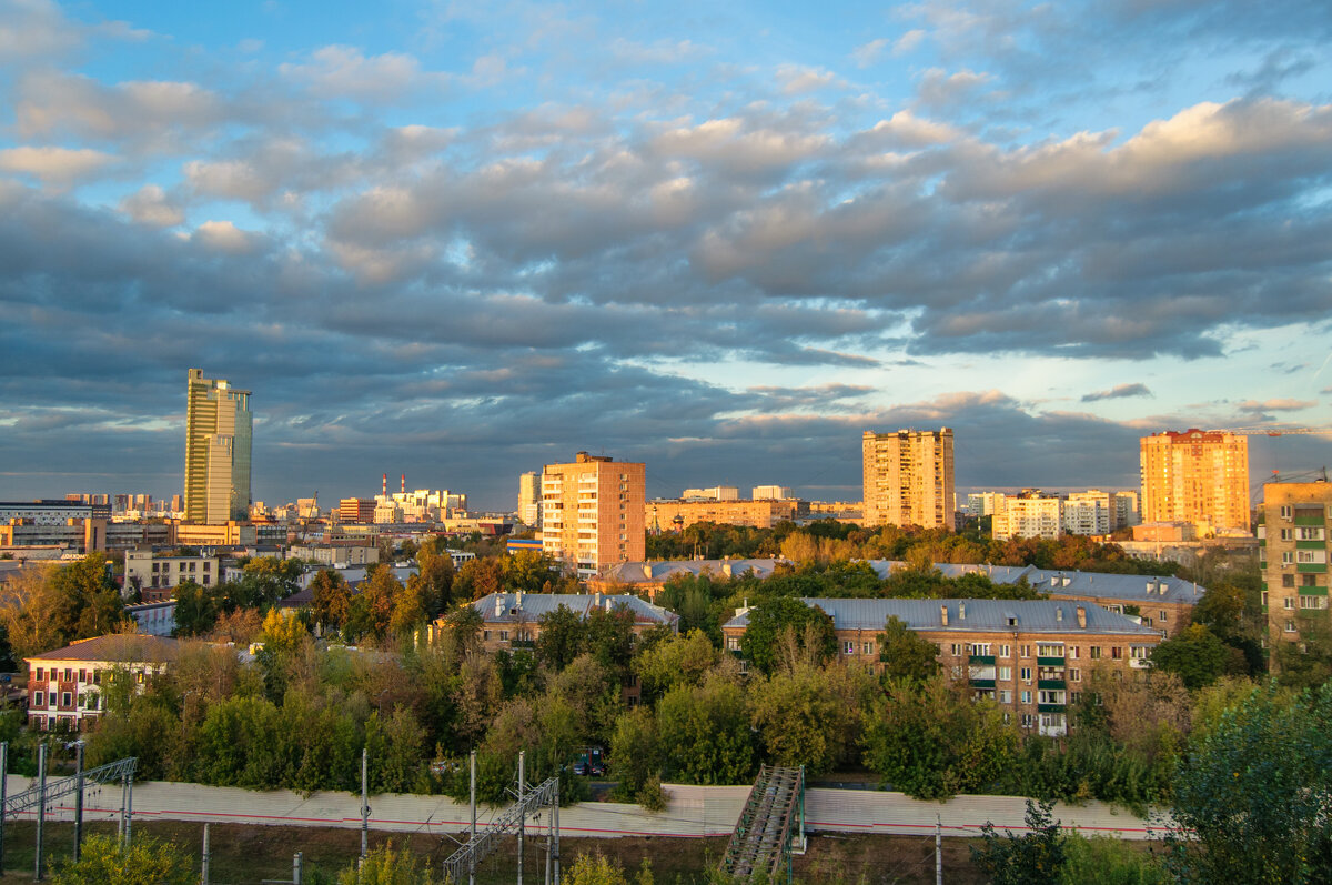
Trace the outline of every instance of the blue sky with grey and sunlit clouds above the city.
<instances>
[{"instance_id":1,"label":"blue sky with grey and sunlit clouds above the city","mask_svg":"<svg viewBox=\"0 0 1332 885\"><path fill-rule=\"evenodd\" d=\"M1332 4L0 0L0 498L1135 488L1332 425ZM1332 435L1251 437L1255 485Z\"/></svg>"}]
</instances>

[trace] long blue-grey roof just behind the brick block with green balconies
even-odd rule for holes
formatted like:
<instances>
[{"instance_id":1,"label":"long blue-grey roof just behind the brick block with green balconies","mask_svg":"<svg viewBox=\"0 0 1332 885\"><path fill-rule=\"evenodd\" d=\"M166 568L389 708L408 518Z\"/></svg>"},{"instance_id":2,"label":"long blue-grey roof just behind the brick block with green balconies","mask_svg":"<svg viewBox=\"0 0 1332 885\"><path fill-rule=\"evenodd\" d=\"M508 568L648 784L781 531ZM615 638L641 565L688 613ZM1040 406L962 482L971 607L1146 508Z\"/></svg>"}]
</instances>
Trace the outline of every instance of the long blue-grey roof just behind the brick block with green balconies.
<instances>
[{"instance_id":1,"label":"long blue-grey roof just behind the brick block with green balconies","mask_svg":"<svg viewBox=\"0 0 1332 885\"><path fill-rule=\"evenodd\" d=\"M896 560L870 560L879 577L906 568ZM1059 596L1079 596L1095 600L1115 600L1120 602L1196 602L1207 593L1207 588L1177 577L1144 574L1114 574L1110 572L1079 572L1076 569L1040 569L1035 565L970 565L955 562L935 562L934 566L944 577L962 574L986 574L995 584L1016 584L1022 578L1043 593Z\"/></svg>"}]
</instances>

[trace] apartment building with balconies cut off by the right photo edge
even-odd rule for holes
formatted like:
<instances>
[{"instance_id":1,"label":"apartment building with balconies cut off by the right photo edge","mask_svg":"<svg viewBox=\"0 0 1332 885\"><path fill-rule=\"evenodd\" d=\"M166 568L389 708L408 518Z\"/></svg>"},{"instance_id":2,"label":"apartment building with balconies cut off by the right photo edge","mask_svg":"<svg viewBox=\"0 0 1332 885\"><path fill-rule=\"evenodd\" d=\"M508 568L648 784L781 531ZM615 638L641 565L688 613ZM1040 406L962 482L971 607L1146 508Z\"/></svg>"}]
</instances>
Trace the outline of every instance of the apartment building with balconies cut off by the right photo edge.
<instances>
[{"instance_id":1,"label":"apartment building with balconies cut off by the right photo edge","mask_svg":"<svg viewBox=\"0 0 1332 885\"><path fill-rule=\"evenodd\" d=\"M1299 642L1305 617L1327 617L1332 482L1265 484L1259 537L1271 641Z\"/></svg>"}]
</instances>

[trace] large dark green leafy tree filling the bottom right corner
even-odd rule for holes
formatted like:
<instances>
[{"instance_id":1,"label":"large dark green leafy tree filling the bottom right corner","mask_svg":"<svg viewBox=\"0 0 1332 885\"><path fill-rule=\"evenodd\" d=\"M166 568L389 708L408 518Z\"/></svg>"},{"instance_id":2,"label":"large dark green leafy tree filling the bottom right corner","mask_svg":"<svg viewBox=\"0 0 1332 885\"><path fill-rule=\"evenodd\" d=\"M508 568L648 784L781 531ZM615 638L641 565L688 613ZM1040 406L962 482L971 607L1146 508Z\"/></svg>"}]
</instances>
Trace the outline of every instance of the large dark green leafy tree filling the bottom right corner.
<instances>
[{"instance_id":1,"label":"large dark green leafy tree filling the bottom right corner","mask_svg":"<svg viewBox=\"0 0 1332 885\"><path fill-rule=\"evenodd\" d=\"M1332 685L1275 684L1221 713L1175 776L1169 864L1183 881L1327 882Z\"/></svg>"}]
</instances>

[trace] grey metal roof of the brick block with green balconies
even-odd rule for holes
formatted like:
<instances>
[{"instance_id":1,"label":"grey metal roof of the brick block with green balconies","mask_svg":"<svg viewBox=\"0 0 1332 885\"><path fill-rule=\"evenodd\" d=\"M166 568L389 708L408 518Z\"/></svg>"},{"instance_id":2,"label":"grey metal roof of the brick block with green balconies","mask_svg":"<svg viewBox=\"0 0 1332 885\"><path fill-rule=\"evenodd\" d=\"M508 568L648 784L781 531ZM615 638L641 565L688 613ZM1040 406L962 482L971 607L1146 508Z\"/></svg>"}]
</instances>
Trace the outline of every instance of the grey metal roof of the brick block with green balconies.
<instances>
[{"instance_id":1,"label":"grey metal roof of the brick block with green balconies","mask_svg":"<svg viewBox=\"0 0 1332 885\"><path fill-rule=\"evenodd\" d=\"M1160 632L1115 614L1099 605L1056 600L852 600L802 598L806 605L823 609L839 630L882 630L890 617L906 622L912 630L992 633L1112 633L1160 640ZM943 608L948 624L943 624ZM1078 626L1078 608L1087 612L1087 626ZM1010 622L1010 618L1016 618ZM737 614L726 622L730 628L749 626L749 614Z\"/></svg>"}]
</instances>

